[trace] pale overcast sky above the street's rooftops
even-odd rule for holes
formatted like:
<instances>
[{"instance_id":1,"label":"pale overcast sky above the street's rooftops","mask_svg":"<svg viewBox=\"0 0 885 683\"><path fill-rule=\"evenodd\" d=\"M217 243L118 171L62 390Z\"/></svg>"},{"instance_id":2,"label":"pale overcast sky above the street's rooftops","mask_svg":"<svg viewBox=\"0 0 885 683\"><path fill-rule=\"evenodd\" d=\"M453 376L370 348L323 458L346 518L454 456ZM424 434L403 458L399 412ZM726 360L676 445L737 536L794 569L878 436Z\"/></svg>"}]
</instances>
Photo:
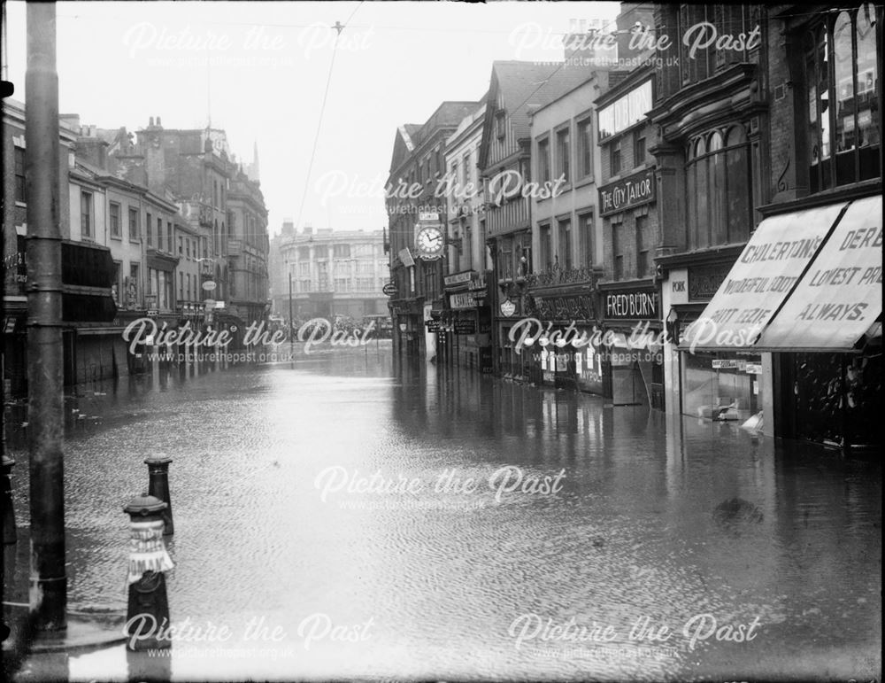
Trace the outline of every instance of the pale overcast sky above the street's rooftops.
<instances>
[{"instance_id":1,"label":"pale overcast sky above the street's rooftops","mask_svg":"<svg viewBox=\"0 0 885 683\"><path fill-rule=\"evenodd\" d=\"M150 116L165 128L204 128L211 115L238 158L251 161L258 144L272 235L299 212L301 225L380 229L387 215L378 185L398 125L423 123L443 100L480 99L495 59L562 59L572 21L613 20L618 7L60 2L59 111L129 130ZM19 100L25 14L24 3L7 4L9 78ZM335 22L347 26L308 182Z\"/></svg>"}]
</instances>

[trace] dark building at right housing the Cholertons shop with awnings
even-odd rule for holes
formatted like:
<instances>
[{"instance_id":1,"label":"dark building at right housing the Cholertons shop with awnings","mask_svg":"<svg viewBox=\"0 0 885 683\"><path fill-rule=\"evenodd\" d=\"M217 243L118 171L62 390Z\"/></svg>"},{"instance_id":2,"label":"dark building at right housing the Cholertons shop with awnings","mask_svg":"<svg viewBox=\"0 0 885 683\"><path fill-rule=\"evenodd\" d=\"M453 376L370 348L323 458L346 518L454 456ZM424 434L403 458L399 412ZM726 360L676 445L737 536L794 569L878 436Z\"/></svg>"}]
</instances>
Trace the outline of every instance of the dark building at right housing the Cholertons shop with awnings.
<instances>
[{"instance_id":1,"label":"dark building at right housing the Cholertons shop with awnings","mask_svg":"<svg viewBox=\"0 0 885 683\"><path fill-rule=\"evenodd\" d=\"M881 19L872 4L656 8L674 38L700 21L748 37L658 74L673 411L881 445Z\"/></svg>"}]
</instances>

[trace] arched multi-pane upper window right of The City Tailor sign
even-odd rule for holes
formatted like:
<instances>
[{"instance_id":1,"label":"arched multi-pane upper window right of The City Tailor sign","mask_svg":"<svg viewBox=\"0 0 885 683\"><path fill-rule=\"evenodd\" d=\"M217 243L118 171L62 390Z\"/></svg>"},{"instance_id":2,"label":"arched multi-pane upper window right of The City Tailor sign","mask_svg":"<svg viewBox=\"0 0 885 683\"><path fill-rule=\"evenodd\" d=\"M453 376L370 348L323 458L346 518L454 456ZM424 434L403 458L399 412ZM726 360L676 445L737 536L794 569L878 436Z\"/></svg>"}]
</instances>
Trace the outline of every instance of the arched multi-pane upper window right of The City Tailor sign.
<instances>
[{"instance_id":1,"label":"arched multi-pane upper window right of The City Tailor sign","mask_svg":"<svg viewBox=\"0 0 885 683\"><path fill-rule=\"evenodd\" d=\"M752 225L752 184L743 125L708 131L692 140L685 173L688 248L746 241Z\"/></svg>"}]
</instances>

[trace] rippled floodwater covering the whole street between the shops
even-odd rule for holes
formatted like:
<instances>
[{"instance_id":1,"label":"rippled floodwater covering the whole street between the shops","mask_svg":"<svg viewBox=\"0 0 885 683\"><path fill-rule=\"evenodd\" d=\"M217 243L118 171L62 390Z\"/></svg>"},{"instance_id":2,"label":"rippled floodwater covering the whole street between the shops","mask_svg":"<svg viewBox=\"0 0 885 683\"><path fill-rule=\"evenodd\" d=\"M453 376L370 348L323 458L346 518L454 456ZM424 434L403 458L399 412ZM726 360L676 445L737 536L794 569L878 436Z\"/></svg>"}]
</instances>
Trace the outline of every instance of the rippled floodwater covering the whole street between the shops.
<instances>
[{"instance_id":1,"label":"rippled floodwater covering the whole street between the shops","mask_svg":"<svg viewBox=\"0 0 885 683\"><path fill-rule=\"evenodd\" d=\"M169 454L180 633L171 656L35 657L19 680L881 674L878 462L389 343L80 393L71 609L125 611L122 507Z\"/></svg>"}]
</instances>

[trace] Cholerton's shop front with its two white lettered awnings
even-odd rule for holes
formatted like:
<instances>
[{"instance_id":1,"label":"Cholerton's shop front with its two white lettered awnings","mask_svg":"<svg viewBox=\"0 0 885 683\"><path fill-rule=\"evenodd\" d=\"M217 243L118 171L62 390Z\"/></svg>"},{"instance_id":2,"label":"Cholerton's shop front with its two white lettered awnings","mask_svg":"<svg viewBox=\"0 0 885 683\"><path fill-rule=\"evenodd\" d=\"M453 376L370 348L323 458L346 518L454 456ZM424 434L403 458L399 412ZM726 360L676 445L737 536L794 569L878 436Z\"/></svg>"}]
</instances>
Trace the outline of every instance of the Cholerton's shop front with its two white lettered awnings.
<instances>
[{"instance_id":1,"label":"Cholerton's shop front with its two white lettered awnings","mask_svg":"<svg viewBox=\"0 0 885 683\"><path fill-rule=\"evenodd\" d=\"M881 195L767 217L681 336L682 411L881 446L881 249Z\"/></svg>"}]
</instances>

